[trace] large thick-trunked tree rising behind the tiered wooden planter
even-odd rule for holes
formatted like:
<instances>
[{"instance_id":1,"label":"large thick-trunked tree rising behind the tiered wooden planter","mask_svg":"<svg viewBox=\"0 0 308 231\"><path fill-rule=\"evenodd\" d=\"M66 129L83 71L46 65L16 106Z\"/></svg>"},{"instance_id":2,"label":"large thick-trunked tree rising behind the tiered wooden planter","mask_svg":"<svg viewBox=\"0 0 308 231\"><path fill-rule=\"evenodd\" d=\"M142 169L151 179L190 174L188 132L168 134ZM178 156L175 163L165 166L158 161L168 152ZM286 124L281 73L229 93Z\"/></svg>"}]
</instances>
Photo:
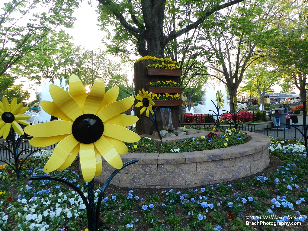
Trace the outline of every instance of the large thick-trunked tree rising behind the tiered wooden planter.
<instances>
[{"instance_id":1,"label":"large thick-trunked tree rising behind the tiered wooden planter","mask_svg":"<svg viewBox=\"0 0 308 231\"><path fill-rule=\"evenodd\" d=\"M173 4L175 0L97 1L100 2L99 21L102 30L108 33L108 39L111 40L111 45L108 46L111 52L127 54L127 47L130 45L136 54L162 58L168 43L176 42L176 38L197 28L214 12L243 0L180 1L179 4ZM186 11L187 5L193 11ZM166 17L166 11L172 18ZM193 20L182 29L169 32L166 30L166 20L185 25L188 18ZM114 26L116 30L110 32L108 26Z\"/></svg>"}]
</instances>

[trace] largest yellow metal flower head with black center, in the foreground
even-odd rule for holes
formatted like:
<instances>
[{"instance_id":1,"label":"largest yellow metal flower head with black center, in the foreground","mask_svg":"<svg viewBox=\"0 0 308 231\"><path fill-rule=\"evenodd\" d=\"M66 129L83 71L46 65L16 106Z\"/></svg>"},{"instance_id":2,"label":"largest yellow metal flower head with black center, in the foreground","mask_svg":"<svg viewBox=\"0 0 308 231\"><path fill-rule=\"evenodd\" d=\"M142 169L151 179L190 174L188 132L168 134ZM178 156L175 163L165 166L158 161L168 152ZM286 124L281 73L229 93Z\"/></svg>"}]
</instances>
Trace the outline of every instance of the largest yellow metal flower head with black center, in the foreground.
<instances>
[{"instance_id":1,"label":"largest yellow metal flower head with black center, in the foreground","mask_svg":"<svg viewBox=\"0 0 308 231\"><path fill-rule=\"evenodd\" d=\"M135 124L138 117L120 114L132 106L134 97L115 101L119 87L112 87L105 93L102 79L96 80L87 94L76 75L71 75L69 88L67 93L52 84L49 91L54 102L41 102L44 111L61 120L30 125L25 132L34 136L30 140L34 147L60 141L44 166L44 172L67 168L79 152L83 179L90 182L102 172L101 156L112 167L120 169L123 163L119 154L128 152L122 141L140 140L139 135L124 128Z\"/></svg>"}]
</instances>

